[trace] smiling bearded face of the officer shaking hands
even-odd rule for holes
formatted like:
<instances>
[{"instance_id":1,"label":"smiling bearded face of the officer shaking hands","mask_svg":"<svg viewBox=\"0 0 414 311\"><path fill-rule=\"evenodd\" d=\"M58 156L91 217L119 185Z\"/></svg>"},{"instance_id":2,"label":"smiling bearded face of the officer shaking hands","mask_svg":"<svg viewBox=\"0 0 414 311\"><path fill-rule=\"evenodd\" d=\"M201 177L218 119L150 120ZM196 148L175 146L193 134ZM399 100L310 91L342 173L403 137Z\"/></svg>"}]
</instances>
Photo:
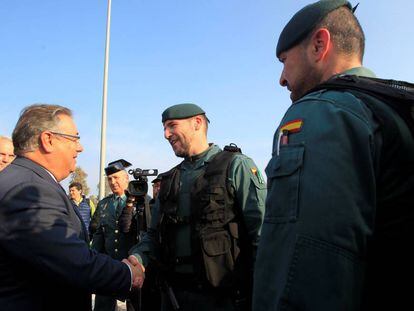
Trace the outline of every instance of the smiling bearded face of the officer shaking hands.
<instances>
[{"instance_id":1,"label":"smiling bearded face of the officer shaking hands","mask_svg":"<svg viewBox=\"0 0 414 311\"><path fill-rule=\"evenodd\" d=\"M164 122L164 137L168 140L177 157L191 156L195 135L192 118L173 119Z\"/></svg>"}]
</instances>

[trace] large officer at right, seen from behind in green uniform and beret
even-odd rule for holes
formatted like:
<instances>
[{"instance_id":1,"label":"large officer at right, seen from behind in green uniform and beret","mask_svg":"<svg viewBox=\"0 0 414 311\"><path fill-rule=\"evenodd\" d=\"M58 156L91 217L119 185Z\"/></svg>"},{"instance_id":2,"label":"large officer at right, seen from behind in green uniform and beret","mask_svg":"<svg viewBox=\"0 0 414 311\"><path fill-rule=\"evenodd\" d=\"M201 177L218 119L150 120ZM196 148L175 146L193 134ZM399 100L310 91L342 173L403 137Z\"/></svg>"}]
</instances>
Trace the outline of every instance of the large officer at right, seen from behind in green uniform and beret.
<instances>
[{"instance_id":1,"label":"large officer at right, seen from behind in green uniform and beret","mask_svg":"<svg viewBox=\"0 0 414 311\"><path fill-rule=\"evenodd\" d=\"M292 106L266 168L255 311L413 309L409 123L383 99L326 84L375 81L364 40L344 0L304 7L279 37Z\"/></svg>"}]
</instances>

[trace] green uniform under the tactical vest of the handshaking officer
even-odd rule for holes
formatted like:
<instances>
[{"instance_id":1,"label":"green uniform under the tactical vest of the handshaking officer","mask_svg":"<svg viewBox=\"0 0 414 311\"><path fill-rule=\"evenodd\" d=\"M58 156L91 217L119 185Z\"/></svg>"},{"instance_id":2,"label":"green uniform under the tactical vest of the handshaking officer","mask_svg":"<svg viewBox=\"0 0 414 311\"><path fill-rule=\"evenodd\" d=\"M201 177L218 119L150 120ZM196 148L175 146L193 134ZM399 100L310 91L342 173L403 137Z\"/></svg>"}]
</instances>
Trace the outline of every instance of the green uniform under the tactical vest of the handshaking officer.
<instances>
[{"instance_id":1,"label":"green uniform under the tactical vest of the handshaking officer","mask_svg":"<svg viewBox=\"0 0 414 311\"><path fill-rule=\"evenodd\" d=\"M200 155L185 159L180 165L180 187L178 201L178 215L185 218L190 216L191 211L191 192L196 179L202 174L208 165L209 160L220 152L220 148L211 145ZM264 213L264 200L266 196L265 182L254 162L245 155L237 154L234 156L230 170L227 175L228 182L234 189L237 205L241 208L248 235L253 246L257 246L260 236L260 228ZM162 184L161 184L162 187ZM162 189L161 189L162 191ZM159 201L152 211L152 223L148 233L130 253L147 265L149 257L156 257L158 249L163 245L158 244L158 224L159 224ZM191 229L190 225L180 226L176 231L175 237L175 257L190 257L191 252ZM180 263L174 267L175 272L186 275L194 271L193 262ZM204 292L196 288L180 290L174 288L181 310L189 310L197 306L198 310L234 310L229 297L221 297L218 301L215 295ZM169 310L164 303L165 310Z\"/></svg>"}]
</instances>

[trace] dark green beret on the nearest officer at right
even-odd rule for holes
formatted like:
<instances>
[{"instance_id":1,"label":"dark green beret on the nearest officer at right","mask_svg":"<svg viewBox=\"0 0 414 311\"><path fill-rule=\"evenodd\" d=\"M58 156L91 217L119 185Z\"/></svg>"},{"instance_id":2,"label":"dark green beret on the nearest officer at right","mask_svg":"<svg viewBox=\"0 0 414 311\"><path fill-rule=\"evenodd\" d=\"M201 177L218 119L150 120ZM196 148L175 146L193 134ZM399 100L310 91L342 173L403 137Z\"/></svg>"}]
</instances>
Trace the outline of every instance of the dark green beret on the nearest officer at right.
<instances>
[{"instance_id":1,"label":"dark green beret on the nearest officer at right","mask_svg":"<svg viewBox=\"0 0 414 311\"><path fill-rule=\"evenodd\" d=\"M283 28L277 42L276 56L279 58L280 53L299 44L328 13L345 5L352 10L352 5L346 0L320 0L305 6Z\"/></svg>"}]
</instances>

